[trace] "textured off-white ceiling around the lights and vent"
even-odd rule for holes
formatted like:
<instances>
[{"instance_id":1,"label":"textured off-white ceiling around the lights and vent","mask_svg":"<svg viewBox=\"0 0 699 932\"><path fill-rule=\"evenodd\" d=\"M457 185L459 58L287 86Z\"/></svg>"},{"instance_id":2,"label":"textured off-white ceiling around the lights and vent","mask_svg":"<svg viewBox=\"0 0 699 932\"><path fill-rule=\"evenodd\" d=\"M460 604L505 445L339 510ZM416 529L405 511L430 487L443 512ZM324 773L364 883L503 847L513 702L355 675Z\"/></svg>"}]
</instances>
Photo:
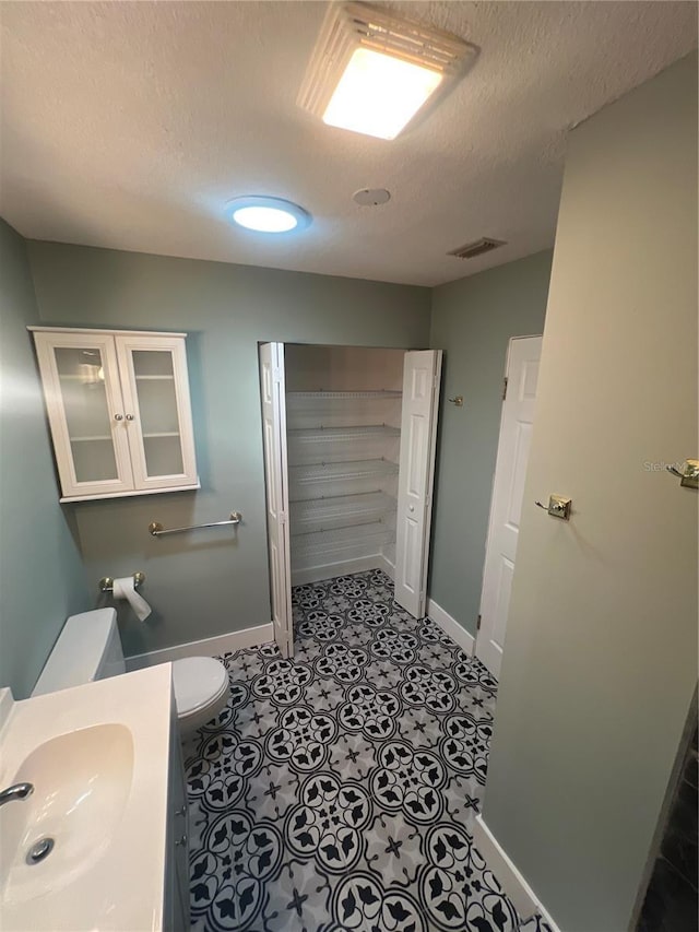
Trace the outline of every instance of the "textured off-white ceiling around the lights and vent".
<instances>
[{"instance_id":1,"label":"textured off-white ceiling around the lights and vent","mask_svg":"<svg viewBox=\"0 0 699 932\"><path fill-rule=\"evenodd\" d=\"M550 246L567 130L697 37L695 3L378 5L481 48L393 142L296 107L324 2L1 3L0 212L36 239L434 285ZM313 225L237 231L246 193ZM446 255L482 235L509 245Z\"/></svg>"}]
</instances>

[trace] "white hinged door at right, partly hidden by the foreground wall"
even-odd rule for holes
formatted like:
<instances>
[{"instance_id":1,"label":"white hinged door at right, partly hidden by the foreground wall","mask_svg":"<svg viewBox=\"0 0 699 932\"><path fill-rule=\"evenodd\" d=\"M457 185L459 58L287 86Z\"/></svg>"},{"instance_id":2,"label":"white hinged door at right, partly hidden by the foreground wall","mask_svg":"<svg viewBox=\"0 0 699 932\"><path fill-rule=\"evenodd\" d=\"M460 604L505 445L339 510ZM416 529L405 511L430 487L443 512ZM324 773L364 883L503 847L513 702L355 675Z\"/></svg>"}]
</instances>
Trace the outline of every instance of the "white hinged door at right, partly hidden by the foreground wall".
<instances>
[{"instance_id":1,"label":"white hinged door at right, partly hidden by the foreground wall","mask_svg":"<svg viewBox=\"0 0 699 932\"><path fill-rule=\"evenodd\" d=\"M500 675L510 606L541 355L541 337L510 340L476 639L476 657L495 676Z\"/></svg>"}]
</instances>

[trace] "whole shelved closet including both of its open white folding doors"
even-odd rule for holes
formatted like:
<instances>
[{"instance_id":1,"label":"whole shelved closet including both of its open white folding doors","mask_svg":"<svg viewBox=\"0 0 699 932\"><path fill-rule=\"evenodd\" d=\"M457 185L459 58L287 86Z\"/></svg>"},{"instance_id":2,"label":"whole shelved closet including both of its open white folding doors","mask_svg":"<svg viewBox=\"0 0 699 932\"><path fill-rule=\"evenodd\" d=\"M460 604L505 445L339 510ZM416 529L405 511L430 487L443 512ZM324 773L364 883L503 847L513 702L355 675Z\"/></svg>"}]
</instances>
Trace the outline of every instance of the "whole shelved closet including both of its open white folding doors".
<instances>
[{"instance_id":1,"label":"whole shelved closet including both of its open white folding doors","mask_svg":"<svg viewBox=\"0 0 699 932\"><path fill-rule=\"evenodd\" d=\"M292 650L292 585L378 567L394 578L396 600L424 613L440 366L439 351L260 346L283 652Z\"/></svg>"}]
</instances>

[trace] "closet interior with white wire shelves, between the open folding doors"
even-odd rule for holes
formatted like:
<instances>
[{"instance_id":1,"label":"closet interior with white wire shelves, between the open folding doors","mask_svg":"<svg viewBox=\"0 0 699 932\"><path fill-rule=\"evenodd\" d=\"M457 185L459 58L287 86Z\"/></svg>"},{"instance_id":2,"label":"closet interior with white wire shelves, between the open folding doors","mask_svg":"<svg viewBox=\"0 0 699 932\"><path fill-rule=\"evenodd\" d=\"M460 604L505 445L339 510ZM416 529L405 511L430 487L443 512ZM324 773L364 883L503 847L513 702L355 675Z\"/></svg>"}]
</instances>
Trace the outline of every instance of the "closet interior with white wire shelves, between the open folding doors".
<instances>
[{"instance_id":1,"label":"closet interior with white wire shelves, between the open folding doors","mask_svg":"<svg viewBox=\"0 0 699 932\"><path fill-rule=\"evenodd\" d=\"M286 347L293 585L392 570L403 355Z\"/></svg>"}]
</instances>

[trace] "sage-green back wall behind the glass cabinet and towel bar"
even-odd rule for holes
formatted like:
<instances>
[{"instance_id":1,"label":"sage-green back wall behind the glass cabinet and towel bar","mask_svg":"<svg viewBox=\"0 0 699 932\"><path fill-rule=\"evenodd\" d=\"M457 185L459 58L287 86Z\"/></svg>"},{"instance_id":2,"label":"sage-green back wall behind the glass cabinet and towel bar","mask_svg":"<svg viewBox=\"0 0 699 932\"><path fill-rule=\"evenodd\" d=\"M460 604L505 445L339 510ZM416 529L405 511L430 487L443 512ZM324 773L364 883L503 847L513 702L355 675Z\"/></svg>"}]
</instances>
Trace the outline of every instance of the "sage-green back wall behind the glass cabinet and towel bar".
<instances>
[{"instance_id":1,"label":"sage-green back wall behind the glass cabinet and towel bar","mask_svg":"<svg viewBox=\"0 0 699 932\"><path fill-rule=\"evenodd\" d=\"M258 341L424 347L430 291L357 279L29 243L42 322L185 330L202 488L70 506L93 591L146 574L153 615L120 609L126 651L156 650L266 624ZM56 492L52 491L52 500ZM167 527L245 523L156 540Z\"/></svg>"}]
</instances>

